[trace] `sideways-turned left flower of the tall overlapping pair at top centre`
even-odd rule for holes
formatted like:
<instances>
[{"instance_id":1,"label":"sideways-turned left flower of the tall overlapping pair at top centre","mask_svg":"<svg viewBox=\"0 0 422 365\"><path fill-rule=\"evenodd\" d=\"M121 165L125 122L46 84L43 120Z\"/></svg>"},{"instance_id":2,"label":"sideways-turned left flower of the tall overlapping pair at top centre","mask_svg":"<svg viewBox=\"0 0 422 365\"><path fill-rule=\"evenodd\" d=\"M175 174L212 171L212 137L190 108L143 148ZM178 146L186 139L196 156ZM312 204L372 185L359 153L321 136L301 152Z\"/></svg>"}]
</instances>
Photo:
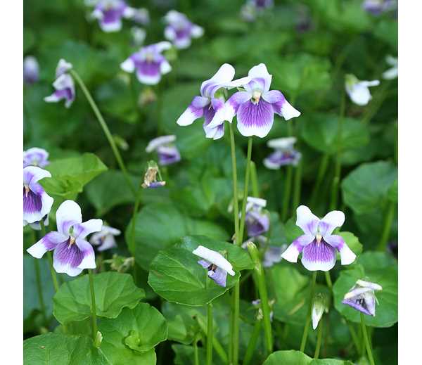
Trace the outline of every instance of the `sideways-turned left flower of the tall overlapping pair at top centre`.
<instances>
[{"instance_id":1,"label":"sideways-turned left flower of the tall overlapping pair at top centre","mask_svg":"<svg viewBox=\"0 0 422 365\"><path fill-rule=\"evenodd\" d=\"M245 79L232 81L234 78L234 67L224 63L216 74L200 85L200 96L195 96L191 105L177 120L177 124L186 126L192 124L200 117L204 117L203 128L205 136L212 139L220 139L224 136L224 89L238 87ZM215 121L215 126L210 124Z\"/></svg>"}]
</instances>

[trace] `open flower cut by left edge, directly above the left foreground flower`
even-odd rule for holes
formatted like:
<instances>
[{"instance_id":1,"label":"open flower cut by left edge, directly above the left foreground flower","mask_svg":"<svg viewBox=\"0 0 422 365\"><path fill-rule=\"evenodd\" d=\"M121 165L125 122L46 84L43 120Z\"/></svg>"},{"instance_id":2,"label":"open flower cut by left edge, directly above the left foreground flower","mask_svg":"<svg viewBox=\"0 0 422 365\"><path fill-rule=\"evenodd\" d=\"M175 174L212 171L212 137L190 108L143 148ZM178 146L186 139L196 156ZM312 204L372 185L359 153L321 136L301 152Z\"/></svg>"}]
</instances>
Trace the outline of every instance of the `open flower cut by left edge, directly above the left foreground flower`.
<instances>
[{"instance_id":1,"label":"open flower cut by left edge, directly above the left foreground flower","mask_svg":"<svg viewBox=\"0 0 422 365\"><path fill-rule=\"evenodd\" d=\"M38 183L44 177L51 177L50 172L36 166L23 169L23 222L34 223L49 214L53 198Z\"/></svg>"}]
</instances>

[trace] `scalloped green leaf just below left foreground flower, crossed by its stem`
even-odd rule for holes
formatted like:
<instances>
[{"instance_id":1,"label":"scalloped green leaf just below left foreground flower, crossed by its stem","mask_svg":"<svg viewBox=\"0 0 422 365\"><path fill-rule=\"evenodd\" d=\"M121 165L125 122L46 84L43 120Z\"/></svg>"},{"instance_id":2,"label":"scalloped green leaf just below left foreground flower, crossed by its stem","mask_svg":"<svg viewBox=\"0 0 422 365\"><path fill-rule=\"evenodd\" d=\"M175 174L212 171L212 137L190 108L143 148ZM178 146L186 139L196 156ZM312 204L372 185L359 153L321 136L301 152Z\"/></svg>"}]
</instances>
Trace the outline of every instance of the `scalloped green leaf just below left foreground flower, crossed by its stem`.
<instances>
[{"instance_id":1,"label":"scalloped green leaf just below left foreground flower, crossed by its stem","mask_svg":"<svg viewBox=\"0 0 422 365\"><path fill-rule=\"evenodd\" d=\"M145 292L135 286L131 275L117 272L94 274L94 291L96 314L106 318L116 318L124 307L134 308L145 297ZM53 300L53 314L60 324L91 316L88 275L64 283Z\"/></svg>"}]
</instances>

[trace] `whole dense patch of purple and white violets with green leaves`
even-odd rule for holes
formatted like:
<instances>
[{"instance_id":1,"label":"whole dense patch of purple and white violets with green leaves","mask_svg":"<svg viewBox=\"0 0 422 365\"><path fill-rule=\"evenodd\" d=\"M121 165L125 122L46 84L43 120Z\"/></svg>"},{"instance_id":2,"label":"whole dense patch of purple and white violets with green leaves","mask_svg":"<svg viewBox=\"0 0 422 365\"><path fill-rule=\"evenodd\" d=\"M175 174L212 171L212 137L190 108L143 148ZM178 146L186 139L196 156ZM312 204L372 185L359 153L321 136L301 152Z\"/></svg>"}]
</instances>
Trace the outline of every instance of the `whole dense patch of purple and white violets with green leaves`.
<instances>
[{"instance_id":1,"label":"whole dense patch of purple and white violets with green leaves","mask_svg":"<svg viewBox=\"0 0 422 365\"><path fill-rule=\"evenodd\" d=\"M397 1L24 24L25 364L397 364Z\"/></svg>"}]
</instances>

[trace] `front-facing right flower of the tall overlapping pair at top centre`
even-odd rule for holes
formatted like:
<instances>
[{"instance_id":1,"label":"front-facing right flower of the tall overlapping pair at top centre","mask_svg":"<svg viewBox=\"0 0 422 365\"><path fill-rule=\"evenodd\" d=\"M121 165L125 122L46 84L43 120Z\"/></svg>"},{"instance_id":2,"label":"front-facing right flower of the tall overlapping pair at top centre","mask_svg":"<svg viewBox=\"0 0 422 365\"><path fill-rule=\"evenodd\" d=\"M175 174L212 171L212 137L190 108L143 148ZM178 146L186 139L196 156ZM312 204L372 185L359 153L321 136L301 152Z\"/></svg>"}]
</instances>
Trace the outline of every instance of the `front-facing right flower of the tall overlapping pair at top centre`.
<instances>
[{"instance_id":1,"label":"front-facing right flower of the tall overlapping pair at top centre","mask_svg":"<svg viewBox=\"0 0 422 365\"><path fill-rule=\"evenodd\" d=\"M293 108L278 90L269 90L272 75L264 63L249 70L244 91L238 91L226 101L226 119L231 122L237 115L237 127L243 136L264 137L269 134L274 122L274 113L285 120L298 117L300 112ZM213 120L210 127L217 127L219 120Z\"/></svg>"}]
</instances>

